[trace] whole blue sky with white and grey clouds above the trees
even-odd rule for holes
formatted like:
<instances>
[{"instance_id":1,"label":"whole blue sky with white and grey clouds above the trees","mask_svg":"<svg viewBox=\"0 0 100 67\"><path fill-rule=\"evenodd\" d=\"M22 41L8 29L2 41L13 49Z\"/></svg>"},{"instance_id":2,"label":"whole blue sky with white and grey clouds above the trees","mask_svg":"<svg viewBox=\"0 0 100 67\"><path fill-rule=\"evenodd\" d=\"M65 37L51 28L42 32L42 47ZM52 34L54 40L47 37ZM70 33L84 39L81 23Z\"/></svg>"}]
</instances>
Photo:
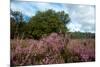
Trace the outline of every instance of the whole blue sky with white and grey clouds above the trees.
<instances>
[{"instance_id":1,"label":"whole blue sky with white and grey clouds above the trees","mask_svg":"<svg viewBox=\"0 0 100 67\"><path fill-rule=\"evenodd\" d=\"M55 11L65 11L71 18L70 23L66 25L70 31L95 32L96 17L94 5L12 1L11 9L21 11L28 17L35 15L38 10L53 9Z\"/></svg>"}]
</instances>

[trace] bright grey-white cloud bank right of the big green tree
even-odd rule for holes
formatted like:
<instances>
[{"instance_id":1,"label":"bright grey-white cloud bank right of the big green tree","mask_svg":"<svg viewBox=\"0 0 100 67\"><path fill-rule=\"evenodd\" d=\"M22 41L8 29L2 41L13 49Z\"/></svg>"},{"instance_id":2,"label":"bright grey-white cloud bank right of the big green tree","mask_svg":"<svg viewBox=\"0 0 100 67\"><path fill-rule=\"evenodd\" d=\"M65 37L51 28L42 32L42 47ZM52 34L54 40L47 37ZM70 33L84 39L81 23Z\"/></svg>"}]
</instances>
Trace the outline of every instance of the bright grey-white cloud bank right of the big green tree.
<instances>
[{"instance_id":1,"label":"bright grey-white cloud bank right of the big green tree","mask_svg":"<svg viewBox=\"0 0 100 67\"><path fill-rule=\"evenodd\" d=\"M95 32L95 7L91 5L66 5L69 9L72 31ZM77 23L77 24L76 24ZM73 26L70 26L72 25ZM74 30L73 30L74 29Z\"/></svg>"}]
</instances>

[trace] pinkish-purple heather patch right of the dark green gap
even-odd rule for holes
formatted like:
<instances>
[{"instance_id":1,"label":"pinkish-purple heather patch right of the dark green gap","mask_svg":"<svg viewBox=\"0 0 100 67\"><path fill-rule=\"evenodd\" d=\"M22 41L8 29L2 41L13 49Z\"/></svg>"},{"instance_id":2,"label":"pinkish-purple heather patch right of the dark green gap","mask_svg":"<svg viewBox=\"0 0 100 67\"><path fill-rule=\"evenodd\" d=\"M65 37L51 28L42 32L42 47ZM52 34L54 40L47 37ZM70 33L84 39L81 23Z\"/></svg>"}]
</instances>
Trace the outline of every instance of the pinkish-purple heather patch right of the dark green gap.
<instances>
[{"instance_id":1,"label":"pinkish-purple heather patch right of the dark green gap","mask_svg":"<svg viewBox=\"0 0 100 67\"><path fill-rule=\"evenodd\" d=\"M70 51L77 54L80 61L94 61L95 60L95 42L94 40L72 40L68 44Z\"/></svg>"}]
</instances>

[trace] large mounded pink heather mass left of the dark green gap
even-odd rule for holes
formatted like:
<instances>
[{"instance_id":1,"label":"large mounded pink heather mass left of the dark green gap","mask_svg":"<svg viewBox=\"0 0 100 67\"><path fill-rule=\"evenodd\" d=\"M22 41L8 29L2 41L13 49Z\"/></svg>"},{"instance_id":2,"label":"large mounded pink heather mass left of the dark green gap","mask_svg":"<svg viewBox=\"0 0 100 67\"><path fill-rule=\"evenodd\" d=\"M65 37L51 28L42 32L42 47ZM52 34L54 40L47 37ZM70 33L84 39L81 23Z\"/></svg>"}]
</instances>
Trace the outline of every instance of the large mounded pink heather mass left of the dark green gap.
<instances>
[{"instance_id":1,"label":"large mounded pink heather mass left of the dark green gap","mask_svg":"<svg viewBox=\"0 0 100 67\"><path fill-rule=\"evenodd\" d=\"M64 37L57 33L41 38L40 40L12 40L11 64L54 64L64 63L60 54L64 50Z\"/></svg>"}]
</instances>

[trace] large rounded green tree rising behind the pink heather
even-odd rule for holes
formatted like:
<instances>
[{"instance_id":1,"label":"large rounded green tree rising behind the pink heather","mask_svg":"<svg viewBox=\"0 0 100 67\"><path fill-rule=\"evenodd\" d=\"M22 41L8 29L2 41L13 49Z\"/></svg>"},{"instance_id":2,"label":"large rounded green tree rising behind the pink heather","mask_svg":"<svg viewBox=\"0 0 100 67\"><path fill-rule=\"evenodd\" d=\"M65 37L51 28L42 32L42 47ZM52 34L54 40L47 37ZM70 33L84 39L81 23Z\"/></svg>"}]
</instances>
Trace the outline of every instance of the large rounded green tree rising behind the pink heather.
<instances>
[{"instance_id":1,"label":"large rounded green tree rising behind the pink heather","mask_svg":"<svg viewBox=\"0 0 100 67\"><path fill-rule=\"evenodd\" d=\"M47 11L38 11L29 21L29 34L35 39L41 38L44 34L50 34L52 32L68 31L66 24L70 21L69 15L64 11L55 12L52 9Z\"/></svg>"}]
</instances>

